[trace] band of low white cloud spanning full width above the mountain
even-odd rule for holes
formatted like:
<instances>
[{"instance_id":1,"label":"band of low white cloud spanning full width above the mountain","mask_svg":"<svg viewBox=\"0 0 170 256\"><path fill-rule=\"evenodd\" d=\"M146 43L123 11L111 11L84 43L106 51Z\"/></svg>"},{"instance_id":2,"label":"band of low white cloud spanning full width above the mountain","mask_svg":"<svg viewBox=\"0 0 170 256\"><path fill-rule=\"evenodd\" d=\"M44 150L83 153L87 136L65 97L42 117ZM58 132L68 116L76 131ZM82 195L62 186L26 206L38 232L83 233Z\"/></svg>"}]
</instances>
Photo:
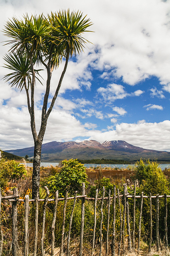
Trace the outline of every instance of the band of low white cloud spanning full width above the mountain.
<instances>
[{"instance_id":1,"label":"band of low white cloud spanning full width above the mountain","mask_svg":"<svg viewBox=\"0 0 170 256\"><path fill-rule=\"evenodd\" d=\"M35 115L38 116L39 110ZM114 117L113 117L114 118ZM115 118L116 119L116 118ZM112 120L113 123L116 120ZM39 126L37 119L37 128ZM125 140L135 146L154 150L168 150L170 145L170 120L160 123L147 123L140 120L138 124L115 124L107 126L108 131L96 130L96 124L81 124L73 115L64 110L54 109L47 124L43 143L50 141L68 141L75 137L105 140ZM79 140L79 141L80 141ZM21 109L1 106L0 115L0 148L9 150L33 146L29 113L26 107Z\"/></svg>"}]
</instances>

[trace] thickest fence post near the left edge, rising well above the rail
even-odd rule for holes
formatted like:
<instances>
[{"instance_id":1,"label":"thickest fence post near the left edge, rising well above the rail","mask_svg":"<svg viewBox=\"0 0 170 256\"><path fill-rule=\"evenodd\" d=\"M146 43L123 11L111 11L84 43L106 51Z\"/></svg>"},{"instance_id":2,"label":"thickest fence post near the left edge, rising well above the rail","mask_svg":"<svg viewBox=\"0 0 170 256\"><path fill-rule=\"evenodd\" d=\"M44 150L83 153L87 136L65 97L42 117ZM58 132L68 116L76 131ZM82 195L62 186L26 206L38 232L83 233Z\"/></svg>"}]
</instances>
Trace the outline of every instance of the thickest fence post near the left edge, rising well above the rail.
<instances>
[{"instance_id":1,"label":"thickest fence post near the left edge, rising well above the rail","mask_svg":"<svg viewBox=\"0 0 170 256\"><path fill-rule=\"evenodd\" d=\"M18 195L18 188L14 188L13 195ZM17 199L12 202L12 255L18 255L18 234L17 234Z\"/></svg>"}]
</instances>

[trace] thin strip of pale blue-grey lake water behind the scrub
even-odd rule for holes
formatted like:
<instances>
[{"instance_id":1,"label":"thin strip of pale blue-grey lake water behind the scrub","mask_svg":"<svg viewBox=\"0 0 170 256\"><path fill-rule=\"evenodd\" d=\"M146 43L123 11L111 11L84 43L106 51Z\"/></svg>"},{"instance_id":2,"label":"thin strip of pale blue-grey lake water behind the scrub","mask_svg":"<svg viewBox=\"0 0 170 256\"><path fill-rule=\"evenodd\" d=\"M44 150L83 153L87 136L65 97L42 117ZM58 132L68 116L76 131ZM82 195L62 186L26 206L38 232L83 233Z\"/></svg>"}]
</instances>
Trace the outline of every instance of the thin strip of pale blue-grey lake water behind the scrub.
<instances>
[{"instance_id":1,"label":"thin strip of pale blue-grey lake water behind the scrub","mask_svg":"<svg viewBox=\"0 0 170 256\"><path fill-rule=\"evenodd\" d=\"M29 167L32 167L33 166L33 163L26 163L25 164L26 166L29 166ZM41 166L44 166L44 167L47 167L47 166L57 166L57 165L59 165L59 163L50 163L50 162L41 162ZM133 165L134 166L134 164L130 164L130 165ZM86 167L86 168L95 168L95 167L97 167L97 166L100 166L100 164L84 164L84 166ZM129 164L101 164L101 167L102 168L105 168L105 167L111 167L111 168L119 168L119 169L121 169L121 168L123 168L123 169L125 169L125 168L127 168L129 166ZM160 164L160 168L162 169L162 170L164 170L165 168L170 168L170 164Z\"/></svg>"}]
</instances>

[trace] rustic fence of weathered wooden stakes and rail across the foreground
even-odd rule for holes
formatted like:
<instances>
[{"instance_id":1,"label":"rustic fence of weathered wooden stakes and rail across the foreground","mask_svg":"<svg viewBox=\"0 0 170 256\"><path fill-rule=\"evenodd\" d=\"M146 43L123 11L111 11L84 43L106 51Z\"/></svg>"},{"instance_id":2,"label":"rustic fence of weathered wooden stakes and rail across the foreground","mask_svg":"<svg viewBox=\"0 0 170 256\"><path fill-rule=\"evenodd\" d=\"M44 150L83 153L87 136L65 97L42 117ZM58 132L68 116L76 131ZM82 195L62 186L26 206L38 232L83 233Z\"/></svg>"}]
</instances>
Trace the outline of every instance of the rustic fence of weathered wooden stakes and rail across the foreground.
<instances>
[{"instance_id":1,"label":"rustic fence of weathered wooden stakes and rail across the foreground","mask_svg":"<svg viewBox=\"0 0 170 256\"><path fill-rule=\"evenodd\" d=\"M79 242L79 255L83 255L83 235L84 235L84 214L85 214L85 200L92 200L94 201L94 227L93 227L93 235L92 235L92 248L89 255L94 255L94 244L95 244L95 233L96 233L96 209L97 209L97 201L101 201L100 205L100 253L101 256L108 255L109 252L109 246L111 248L111 255L115 256L116 253L119 256L121 254L121 249L123 248L123 252L125 252L125 226L127 227L127 238L128 238L128 250L129 252L132 252L135 250L135 212L136 212L136 198L141 199L140 203L140 211L139 211L139 223L138 223L138 237L137 237L137 252L139 254L140 252L140 240L141 240L141 220L142 220L142 212L143 212L143 199L149 198L149 204L150 204L150 216L149 216L149 222L150 222L150 234L149 234L149 252L151 251L151 244L152 244L152 199L156 199L156 248L157 251L160 250L160 240L159 240L159 198L164 197L164 244L165 247L168 248L168 228L167 228L167 198L170 196L164 195L156 195L152 196L151 194L149 196L144 196L143 192L140 196L136 196L136 182L134 183L134 191L133 194L127 193L127 184L123 185L123 194L119 194L119 189L117 189L117 195L116 195L116 188L114 186L113 189L113 197L110 196L111 192L109 190L108 196L105 197L105 188L103 187L102 197L98 197L98 189L96 190L96 196L95 198L88 198L85 194L85 185L82 184L82 195L78 196L77 191L75 192L74 197L68 197L68 193L66 192L65 198L59 198L58 191L55 194L54 199L49 199L49 190L47 187L45 187L46 190L46 198L45 199L38 199L37 197L35 200L29 200L29 196L26 195L25 199L19 199L18 190L17 188L14 188L13 195L12 196L1 196L0 194L0 217L1 217L1 202L2 200L8 200L12 202L12 255L17 256L18 255L18 232L17 232L17 204L18 202L24 202L24 241L23 241L23 255L28 256L28 248L29 248L29 203L35 202L35 234L34 234L34 248L33 248L33 256L37 255L37 238L38 238L38 209L39 209L39 202L43 201L43 218L42 218L42 232L41 232L41 254L42 256L45 256L45 248L44 248L44 237L45 237L45 215L46 215L46 207L47 202L54 201L54 209L53 209L53 221L51 226L51 256L54 255L54 246L55 246L55 223L56 223L56 213L57 213L57 204L59 201L64 200L64 206L63 206L63 224L62 224L62 234L61 234L61 246L60 246L60 256L63 255L63 245L64 245L64 226L65 226L65 217L66 217L66 205L68 200L73 200L72 204L72 211L70 215L70 223L69 223L69 230L68 230L68 238L67 238L67 246L66 246L66 255L70 255L70 235L71 235L71 227L72 227L72 218L74 213L74 208L76 204L76 199L80 198L81 203L81 227L80 227L80 242ZM130 221L129 221L129 202L128 199L133 198L133 224L132 230L130 230ZM104 200L107 200L107 227L106 227L106 251L102 252L102 243L103 243L103 235L102 235L102 222L103 222L103 205ZM119 209L119 238L118 238L118 250L115 252L115 235L117 230L115 229L115 216L116 216L116 201L118 202L118 209ZM121 210L121 201L123 203L123 212ZM113 206L113 212L110 216L110 206ZM109 221L112 220L112 236L111 239L109 238ZM2 226L0 224L0 256L2 255L3 250L3 240L4 240L4 234L2 232Z\"/></svg>"}]
</instances>

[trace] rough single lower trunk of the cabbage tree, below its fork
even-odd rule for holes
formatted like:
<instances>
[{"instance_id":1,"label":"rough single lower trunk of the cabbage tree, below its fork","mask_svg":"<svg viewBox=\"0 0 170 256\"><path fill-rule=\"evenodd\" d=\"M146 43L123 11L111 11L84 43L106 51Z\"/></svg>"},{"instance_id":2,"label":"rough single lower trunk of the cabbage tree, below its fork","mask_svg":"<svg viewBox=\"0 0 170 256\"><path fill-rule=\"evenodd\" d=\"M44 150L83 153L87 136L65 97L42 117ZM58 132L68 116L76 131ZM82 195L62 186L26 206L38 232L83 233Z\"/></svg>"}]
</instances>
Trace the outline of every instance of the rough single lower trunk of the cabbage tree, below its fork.
<instances>
[{"instance_id":1,"label":"rough single lower trunk of the cabbage tree, below its fork","mask_svg":"<svg viewBox=\"0 0 170 256\"><path fill-rule=\"evenodd\" d=\"M41 163L41 146L42 140L34 142L33 158L33 175L32 175L32 199L35 199L36 193L39 198L39 180L40 180L40 163Z\"/></svg>"}]
</instances>

